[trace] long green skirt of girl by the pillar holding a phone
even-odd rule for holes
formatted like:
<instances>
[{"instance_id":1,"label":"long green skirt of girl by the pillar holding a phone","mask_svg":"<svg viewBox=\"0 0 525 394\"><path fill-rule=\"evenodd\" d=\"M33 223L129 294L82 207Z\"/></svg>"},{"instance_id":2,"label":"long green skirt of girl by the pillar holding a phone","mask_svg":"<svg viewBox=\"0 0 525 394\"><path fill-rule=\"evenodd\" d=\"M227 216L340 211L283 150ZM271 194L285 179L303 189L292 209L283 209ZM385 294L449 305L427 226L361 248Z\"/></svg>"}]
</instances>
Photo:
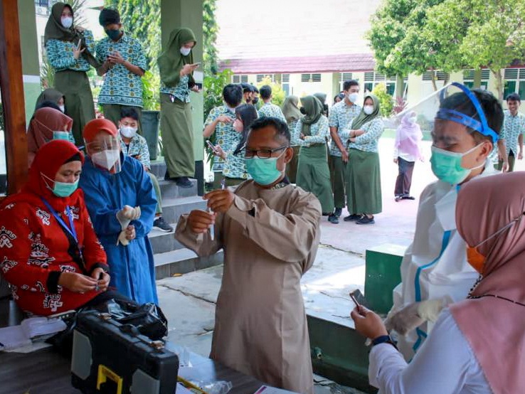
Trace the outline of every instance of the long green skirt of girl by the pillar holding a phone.
<instances>
[{"instance_id":1,"label":"long green skirt of girl by the pillar holding a phone","mask_svg":"<svg viewBox=\"0 0 525 394\"><path fill-rule=\"evenodd\" d=\"M191 105L161 93L161 133L170 178L195 176Z\"/></svg>"}]
</instances>

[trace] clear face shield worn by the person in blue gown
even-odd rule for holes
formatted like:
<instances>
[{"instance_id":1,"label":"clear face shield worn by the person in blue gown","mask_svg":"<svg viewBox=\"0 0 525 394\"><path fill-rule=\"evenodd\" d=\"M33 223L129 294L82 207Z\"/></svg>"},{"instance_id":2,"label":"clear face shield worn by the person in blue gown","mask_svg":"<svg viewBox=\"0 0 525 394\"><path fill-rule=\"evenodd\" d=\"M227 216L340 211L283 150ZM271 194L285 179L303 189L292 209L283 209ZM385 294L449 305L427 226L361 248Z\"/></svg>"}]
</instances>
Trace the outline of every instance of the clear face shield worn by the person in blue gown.
<instances>
[{"instance_id":1,"label":"clear face shield worn by the person in blue gown","mask_svg":"<svg viewBox=\"0 0 525 394\"><path fill-rule=\"evenodd\" d=\"M100 132L90 142L84 139L85 149L95 166L112 174L122 169L120 162L120 141L118 136Z\"/></svg>"}]
</instances>

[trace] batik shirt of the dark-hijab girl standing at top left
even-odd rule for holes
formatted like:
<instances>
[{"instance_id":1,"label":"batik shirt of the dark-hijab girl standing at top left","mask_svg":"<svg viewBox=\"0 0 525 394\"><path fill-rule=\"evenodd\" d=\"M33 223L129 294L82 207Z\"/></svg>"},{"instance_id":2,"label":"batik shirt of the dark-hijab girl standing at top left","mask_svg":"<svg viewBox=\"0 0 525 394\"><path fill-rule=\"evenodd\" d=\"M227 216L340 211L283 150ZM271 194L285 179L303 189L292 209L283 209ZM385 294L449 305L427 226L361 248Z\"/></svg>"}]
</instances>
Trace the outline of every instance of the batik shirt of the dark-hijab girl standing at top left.
<instances>
[{"instance_id":1,"label":"batik shirt of the dark-hijab girl standing at top left","mask_svg":"<svg viewBox=\"0 0 525 394\"><path fill-rule=\"evenodd\" d=\"M90 53L95 53L95 40L93 33L89 30L83 32L85 44ZM51 67L55 71L74 70L74 71L89 71L90 63L85 60L82 54L75 59L73 50L77 48L78 43L73 41L48 40L46 43L46 55L48 57Z\"/></svg>"}]
</instances>

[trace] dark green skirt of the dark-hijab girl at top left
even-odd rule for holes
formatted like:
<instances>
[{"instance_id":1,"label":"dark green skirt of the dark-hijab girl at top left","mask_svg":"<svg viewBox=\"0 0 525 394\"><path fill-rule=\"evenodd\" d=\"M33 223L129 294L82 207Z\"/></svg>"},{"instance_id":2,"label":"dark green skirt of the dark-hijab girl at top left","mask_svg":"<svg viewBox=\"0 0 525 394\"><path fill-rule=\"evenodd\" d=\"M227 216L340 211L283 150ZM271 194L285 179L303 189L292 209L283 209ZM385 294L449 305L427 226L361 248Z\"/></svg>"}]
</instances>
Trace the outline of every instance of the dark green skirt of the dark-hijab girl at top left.
<instances>
[{"instance_id":1,"label":"dark green skirt of the dark-hijab girl at top left","mask_svg":"<svg viewBox=\"0 0 525 394\"><path fill-rule=\"evenodd\" d=\"M55 89L64 95L65 115L73 119L73 137L80 147L84 144L82 132L85 124L95 119L88 75L84 71L58 71L55 73Z\"/></svg>"}]
</instances>

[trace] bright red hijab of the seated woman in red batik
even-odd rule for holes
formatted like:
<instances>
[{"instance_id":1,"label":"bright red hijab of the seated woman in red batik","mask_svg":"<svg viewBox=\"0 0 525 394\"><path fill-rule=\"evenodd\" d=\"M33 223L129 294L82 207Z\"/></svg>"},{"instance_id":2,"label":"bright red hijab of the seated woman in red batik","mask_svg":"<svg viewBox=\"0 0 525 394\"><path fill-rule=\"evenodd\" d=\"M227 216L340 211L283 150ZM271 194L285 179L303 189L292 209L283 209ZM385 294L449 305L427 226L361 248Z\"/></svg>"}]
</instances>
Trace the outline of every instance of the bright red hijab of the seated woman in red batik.
<instances>
[{"instance_id":1,"label":"bright red hijab of the seated woman in red batik","mask_svg":"<svg viewBox=\"0 0 525 394\"><path fill-rule=\"evenodd\" d=\"M84 155L75 147L75 144L63 139L48 142L36 152L31 169L29 169L26 185L19 193L15 193L2 201L1 206L4 207L9 203L22 201L31 203L33 206L42 206L42 198L45 198L55 211L60 213L65 210L66 206L75 205L76 201L83 198L80 189L74 191L69 197L55 196L53 191L48 188L48 186L53 186L52 182L42 176L43 174L54 180L60 166L74 160L80 160L82 164L84 163Z\"/></svg>"}]
</instances>

